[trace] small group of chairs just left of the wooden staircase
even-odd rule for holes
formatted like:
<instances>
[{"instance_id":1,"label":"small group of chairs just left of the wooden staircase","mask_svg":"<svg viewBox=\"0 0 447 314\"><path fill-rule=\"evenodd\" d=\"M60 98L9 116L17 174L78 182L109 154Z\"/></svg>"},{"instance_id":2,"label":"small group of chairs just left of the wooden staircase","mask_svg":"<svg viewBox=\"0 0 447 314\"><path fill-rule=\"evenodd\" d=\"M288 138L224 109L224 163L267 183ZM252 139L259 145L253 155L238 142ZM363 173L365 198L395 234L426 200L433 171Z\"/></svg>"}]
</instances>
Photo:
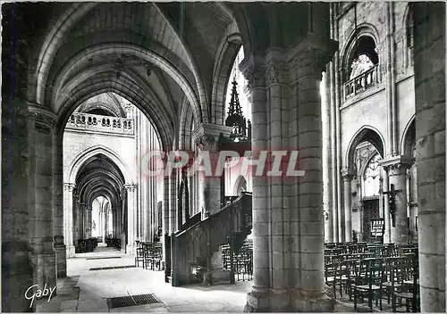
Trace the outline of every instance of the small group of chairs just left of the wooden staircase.
<instances>
[{"instance_id":1,"label":"small group of chairs just left of the wooden staircase","mask_svg":"<svg viewBox=\"0 0 447 314\"><path fill-rule=\"evenodd\" d=\"M160 242L140 242L136 241L137 250L135 254L135 266L139 263L144 269L163 270L161 262L163 260L163 246Z\"/></svg>"}]
</instances>

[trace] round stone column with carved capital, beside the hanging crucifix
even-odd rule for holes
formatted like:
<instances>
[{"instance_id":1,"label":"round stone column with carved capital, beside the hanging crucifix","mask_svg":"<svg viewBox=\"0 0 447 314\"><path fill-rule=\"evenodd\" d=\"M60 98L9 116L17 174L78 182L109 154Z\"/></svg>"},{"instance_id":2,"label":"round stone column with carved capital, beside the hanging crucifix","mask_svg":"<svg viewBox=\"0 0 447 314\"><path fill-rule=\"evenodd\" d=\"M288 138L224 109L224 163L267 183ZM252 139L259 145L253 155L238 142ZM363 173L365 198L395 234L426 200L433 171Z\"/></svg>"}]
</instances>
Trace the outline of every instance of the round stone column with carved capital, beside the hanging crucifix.
<instances>
[{"instance_id":1,"label":"round stone column with carved capital, beside the hanging crucifix","mask_svg":"<svg viewBox=\"0 0 447 314\"><path fill-rule=\"evenodd\" d=\"M400 190L395 196L396 211L394 213L394 221L396 227L392 227L392 219L390 219L391 242L394 244L408 244L407 169L411 166L411 161L403 156L398 156L383 161L382 165L388 172L389 186L386 187L387 191L391 190L392 185L394 185L394 190ZM390 199L390 194L388 194L388 199Z\"/></svg>"}]
</instances>

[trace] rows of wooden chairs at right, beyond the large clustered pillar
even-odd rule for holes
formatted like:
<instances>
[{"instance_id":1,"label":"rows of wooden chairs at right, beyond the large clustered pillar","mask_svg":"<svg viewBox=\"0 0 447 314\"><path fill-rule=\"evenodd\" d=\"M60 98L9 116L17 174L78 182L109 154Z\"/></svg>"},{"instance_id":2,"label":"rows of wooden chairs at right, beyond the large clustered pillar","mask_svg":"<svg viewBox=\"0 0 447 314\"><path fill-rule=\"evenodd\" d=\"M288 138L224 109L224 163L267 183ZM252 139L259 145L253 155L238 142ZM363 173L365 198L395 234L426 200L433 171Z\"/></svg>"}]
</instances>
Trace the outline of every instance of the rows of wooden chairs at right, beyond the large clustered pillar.
<instances>
[{"instance_id":1,"label":"rows of wooden chairs at right, beyond the large clustered pillar","mask_svg":"<svg viewBox=\"0 0 447 314\"><path fill-rule=\"evenodd\" d=\"M354 246L358 246L354 248ZM357 309L367 298L382 310L382 299L392 302L392 310L405 302L406 310L418 309L417 247L413 245L342 244L325 249L325 283L333 298L347 293Z\"/></svg>"}]
</instances>

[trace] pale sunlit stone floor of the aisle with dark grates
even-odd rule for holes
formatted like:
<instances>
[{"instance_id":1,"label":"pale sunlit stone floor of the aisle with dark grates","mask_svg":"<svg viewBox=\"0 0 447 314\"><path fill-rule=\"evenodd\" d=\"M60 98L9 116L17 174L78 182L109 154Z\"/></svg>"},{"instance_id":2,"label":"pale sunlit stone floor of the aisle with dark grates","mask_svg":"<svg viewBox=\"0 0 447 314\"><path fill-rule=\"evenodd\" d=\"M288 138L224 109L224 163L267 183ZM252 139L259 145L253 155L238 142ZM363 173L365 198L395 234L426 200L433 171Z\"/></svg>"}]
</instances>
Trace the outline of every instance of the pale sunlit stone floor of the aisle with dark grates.
<instances>
[{"instance_id":1,"label":"pale sunlit stone floor of the aisle with dark grates","mask_svg":"<svg viewBox=\"0 0 447 314\"><path fill-rule=\"evenodd\" d=\"M236 285L173 287L164 283L163 271L142 268L89 270L126 265L134 265L132 256L100 246L95 252L76 254L75 258L67 260L68 277L58 280L57 295L49 302L39 300L37 311L241 312L251 285L240 281ZM107 306L107 298L147 293L154 293L161 302L110 310Z\"/></svg>"}]
</instances>

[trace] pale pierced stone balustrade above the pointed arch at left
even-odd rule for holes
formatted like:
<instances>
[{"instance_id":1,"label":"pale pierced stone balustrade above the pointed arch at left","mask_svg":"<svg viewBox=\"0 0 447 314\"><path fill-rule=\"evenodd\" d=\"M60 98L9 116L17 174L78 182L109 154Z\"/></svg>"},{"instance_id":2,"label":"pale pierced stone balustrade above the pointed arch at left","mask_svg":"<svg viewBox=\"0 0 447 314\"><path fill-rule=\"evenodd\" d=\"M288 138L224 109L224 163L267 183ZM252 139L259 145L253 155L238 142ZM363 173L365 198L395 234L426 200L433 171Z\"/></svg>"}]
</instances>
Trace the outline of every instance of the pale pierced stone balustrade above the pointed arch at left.
<instances>
[{"instance_id":1,"label":"pale pierced stone balustrade above the pointed arch at left","mask_svg":"<svg viewBox=\"0 0 447 314\"><path fill-rule=\"evenodd\" d=\"M133 120L76 112L67 121L67 127L97 132L133 135Z\"/></svg>"}]
</instances>

